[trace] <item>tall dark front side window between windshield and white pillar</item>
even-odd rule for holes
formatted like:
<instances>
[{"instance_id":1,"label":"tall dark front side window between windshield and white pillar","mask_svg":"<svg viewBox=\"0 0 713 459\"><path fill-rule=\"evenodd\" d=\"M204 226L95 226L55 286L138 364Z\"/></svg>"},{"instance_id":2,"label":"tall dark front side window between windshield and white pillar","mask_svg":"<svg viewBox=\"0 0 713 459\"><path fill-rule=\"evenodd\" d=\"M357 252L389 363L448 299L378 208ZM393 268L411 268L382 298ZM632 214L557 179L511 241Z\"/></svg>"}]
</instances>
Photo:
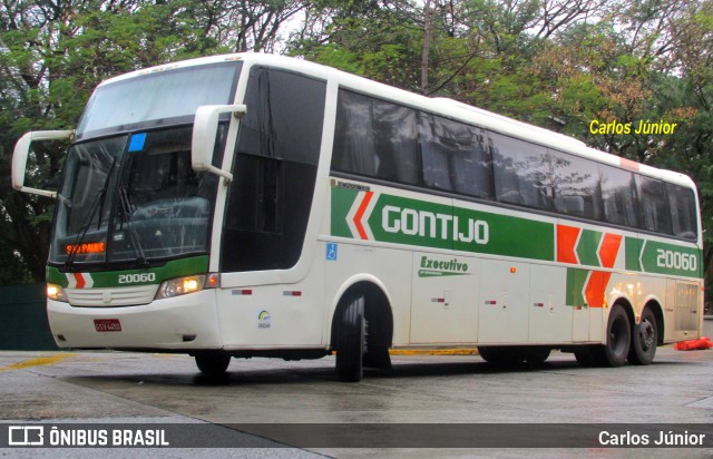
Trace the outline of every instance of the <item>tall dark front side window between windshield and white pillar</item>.
<instances>
[{"instance_id":1,"label":"tall dark front side window between windshield and white pillar","mask_svg":"<svg viewBox=\"0 0 713 459\"><path fill-rule=\"evenodd\" d=\"M306 231L325 84L251 69L223 240L223 270L292 267Z\"/></svg>"}]
</instances>

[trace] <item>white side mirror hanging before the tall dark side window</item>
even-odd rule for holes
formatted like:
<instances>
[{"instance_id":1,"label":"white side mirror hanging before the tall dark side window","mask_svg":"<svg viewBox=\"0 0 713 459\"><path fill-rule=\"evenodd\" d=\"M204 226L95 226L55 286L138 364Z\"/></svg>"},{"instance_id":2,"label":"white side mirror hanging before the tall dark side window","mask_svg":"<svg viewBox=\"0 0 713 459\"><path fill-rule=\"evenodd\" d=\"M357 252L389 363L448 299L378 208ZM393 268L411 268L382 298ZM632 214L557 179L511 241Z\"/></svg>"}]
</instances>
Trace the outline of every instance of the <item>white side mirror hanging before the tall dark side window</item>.
<instances>
[{"instance_id":1,"label":"white side mirror hanging before the tall dark side window","mask_svg":"<svg viewBox=\"0 0 713 459\"><path fill-rule=\"evenodd\" d=\"M191 164L196 172L209 172L227 180L233 174L213 165L215 136L218 131L218 120L222 114L233 114L242 118L247 111L244 105L204 105L198 107L193 123L193 139L191 143Z\"/></svg>"}]
</instances>

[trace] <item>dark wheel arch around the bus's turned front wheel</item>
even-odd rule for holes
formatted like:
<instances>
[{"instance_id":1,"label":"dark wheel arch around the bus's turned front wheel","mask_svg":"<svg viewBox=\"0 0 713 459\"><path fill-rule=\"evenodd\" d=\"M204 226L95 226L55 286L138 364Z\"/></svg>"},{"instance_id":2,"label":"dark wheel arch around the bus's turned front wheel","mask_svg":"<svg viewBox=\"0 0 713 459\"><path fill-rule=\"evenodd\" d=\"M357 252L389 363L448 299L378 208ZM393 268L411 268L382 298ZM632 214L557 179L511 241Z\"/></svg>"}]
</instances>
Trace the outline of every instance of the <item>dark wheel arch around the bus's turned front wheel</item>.
<instances>
[{"instance_id":1,"label":"dark wheel arch around the bus's turned front wheel","mask_svg":"<svg viewBox=\"0 0 713 459\"><path fill-rule=\"evenodd\" d=\"M377 277L363 274L350 277L339 289L332 301L330 314L330 349L335 349L339 333L339 316L352 294L364 296L364 318L369 323L369 339L372 343L390 348L393 341L393 309L391 295Z\"/></svg>"}]
</instances>

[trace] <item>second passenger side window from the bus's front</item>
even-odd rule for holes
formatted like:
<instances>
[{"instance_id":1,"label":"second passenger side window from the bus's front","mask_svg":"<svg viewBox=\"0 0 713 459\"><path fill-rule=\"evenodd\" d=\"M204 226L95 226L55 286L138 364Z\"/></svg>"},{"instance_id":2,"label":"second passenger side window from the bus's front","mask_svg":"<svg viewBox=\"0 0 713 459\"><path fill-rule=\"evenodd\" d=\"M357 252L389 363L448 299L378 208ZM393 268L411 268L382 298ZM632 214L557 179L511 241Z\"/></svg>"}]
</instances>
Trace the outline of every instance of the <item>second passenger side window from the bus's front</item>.
<instances>
[{"instance_id":1,"label":"second passenger side window from the bus's front","mask_svg":"<svg viewBox=\"0 0 713 459\"><path fill-rule=\"evenodd\" d=\"M491 197L486 131L430 114L419 114L423 184L476 197Z\"/></svg>"}]
</instances>

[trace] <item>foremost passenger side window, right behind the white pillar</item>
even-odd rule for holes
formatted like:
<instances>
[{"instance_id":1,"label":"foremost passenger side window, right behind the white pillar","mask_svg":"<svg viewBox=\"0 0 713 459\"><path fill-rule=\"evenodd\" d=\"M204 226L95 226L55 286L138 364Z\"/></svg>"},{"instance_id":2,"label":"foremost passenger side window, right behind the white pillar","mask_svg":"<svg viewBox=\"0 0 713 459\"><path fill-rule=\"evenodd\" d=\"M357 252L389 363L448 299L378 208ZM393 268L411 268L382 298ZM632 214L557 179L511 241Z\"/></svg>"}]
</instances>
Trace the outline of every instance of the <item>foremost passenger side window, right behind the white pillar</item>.
<instances>
[{"instance_id":1,"label":"foremost passenger side window, right behind the white pillar","mask_svg":"<svg viewBox=\"0 0 713 459\"><path fill-rule=\"evenodd\" d=\"M416 110L340 90L332 168L390 182L419 182Z\"/></svg>"}]
</instances>

